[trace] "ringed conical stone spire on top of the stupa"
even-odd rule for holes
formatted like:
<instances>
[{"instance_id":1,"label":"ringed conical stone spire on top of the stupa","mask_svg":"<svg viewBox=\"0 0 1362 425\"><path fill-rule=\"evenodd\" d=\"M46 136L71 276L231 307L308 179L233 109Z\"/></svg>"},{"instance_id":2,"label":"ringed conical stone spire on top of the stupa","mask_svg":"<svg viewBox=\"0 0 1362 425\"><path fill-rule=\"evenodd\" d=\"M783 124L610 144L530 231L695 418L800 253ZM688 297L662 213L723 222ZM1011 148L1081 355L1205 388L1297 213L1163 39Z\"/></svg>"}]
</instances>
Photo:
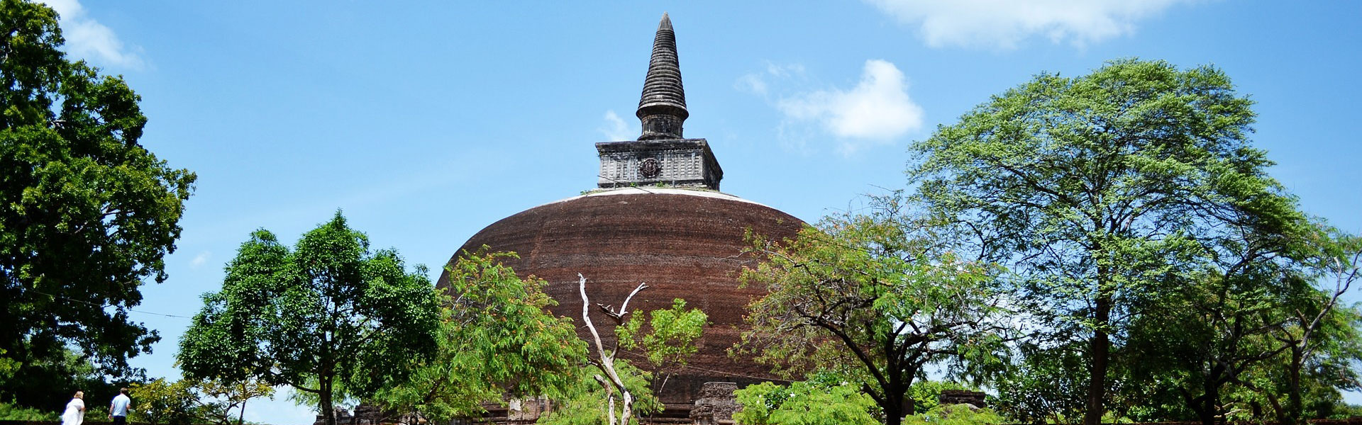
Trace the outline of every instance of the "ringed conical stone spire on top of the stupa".
<instances>
[{"instance_id":1,"label":"ringed conical stone spire on top of the stupa","mask_svg":"<svg viewBox=\"0 0 1362 425\"><path fill-rule=\"evenodd\" d=\"M685 89L681 87L677 37L666 12L662 14L658 35L652 40L652 60L648 63L636 114L643 121L639 140L681 139L681 124L691 116L685 109Z\"/></svg>"}]
</instances>

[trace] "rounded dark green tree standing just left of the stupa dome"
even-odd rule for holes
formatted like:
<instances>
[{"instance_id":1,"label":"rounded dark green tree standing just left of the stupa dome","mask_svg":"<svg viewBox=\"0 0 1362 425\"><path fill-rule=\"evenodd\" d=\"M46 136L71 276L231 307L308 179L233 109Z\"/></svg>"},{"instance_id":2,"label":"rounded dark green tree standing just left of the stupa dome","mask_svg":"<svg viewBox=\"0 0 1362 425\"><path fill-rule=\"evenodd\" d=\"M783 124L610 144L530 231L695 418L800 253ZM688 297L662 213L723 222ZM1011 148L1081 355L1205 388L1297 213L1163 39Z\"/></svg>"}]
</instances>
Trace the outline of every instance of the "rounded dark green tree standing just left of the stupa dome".
<instances>
[{"instance_id":1,"label":"rounded dark green tree standing just left of the stupa dome","mask_svg":"<svg viewBox=\"0 0 1362 425\"><path fill-rule=\"evenodd\" d=\"M334 425L334 400L402 381L403 365L434 354L440 298L425 275L396 251L372 252L339 211L293 249L256 230L180 339L180 366L291 385Z\"/></svg>"}]
</instances>

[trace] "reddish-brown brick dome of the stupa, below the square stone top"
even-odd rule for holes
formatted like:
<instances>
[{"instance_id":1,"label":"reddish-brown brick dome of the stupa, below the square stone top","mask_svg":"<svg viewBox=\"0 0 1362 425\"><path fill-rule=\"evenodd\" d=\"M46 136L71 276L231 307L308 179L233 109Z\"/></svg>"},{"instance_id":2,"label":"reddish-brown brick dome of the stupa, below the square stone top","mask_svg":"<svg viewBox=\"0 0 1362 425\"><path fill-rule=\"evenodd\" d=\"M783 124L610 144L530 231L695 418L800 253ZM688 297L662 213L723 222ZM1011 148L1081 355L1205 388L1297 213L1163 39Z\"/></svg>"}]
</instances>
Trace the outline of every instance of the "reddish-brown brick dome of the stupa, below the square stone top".
<instances>
[{"instance_id":1,"label":"reddish-brown brick dome of the stupa, below the square stone top","mask_svg":"<svg viewBox=\"0 0 1362 425\"><path fill-rule=\"evenodd\" d=\"M629 309L635 313L669 308L673 298L686 300L710 316L689 366L667 380L659 396L669 410L689 409L707 381L741 385L771 377L770 368L750 360L734 360L726 350L744 328L742 316L761 289L738 287L738 271L750 264L742 255L744 234L793 237L802 221L775 208L737 196L699 189L617 188L538 206L492 223L462 249L488 245L513 251L508 260L522 277L549 282L545 292L557 300L553 312L572 317L577 334L588 338L582 323L577 274L587 278L591 302L618 305L639 282L640 292ZM439 285L448 287L448 275ZM595 306L591 320L607 321ZM614 334L601 330L614 343ZM621 353L635 365L639 356Z\"/></svg>"}]
</instances>

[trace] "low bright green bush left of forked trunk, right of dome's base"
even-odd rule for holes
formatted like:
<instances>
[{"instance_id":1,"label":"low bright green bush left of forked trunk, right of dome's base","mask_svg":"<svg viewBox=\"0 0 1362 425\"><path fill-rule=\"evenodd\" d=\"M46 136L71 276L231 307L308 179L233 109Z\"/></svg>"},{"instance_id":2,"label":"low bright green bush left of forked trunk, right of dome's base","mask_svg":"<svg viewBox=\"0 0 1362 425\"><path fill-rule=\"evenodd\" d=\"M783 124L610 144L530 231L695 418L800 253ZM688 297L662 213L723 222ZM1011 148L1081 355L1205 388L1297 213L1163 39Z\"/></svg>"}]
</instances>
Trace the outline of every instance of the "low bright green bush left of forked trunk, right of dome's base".
<instances>
[{"instance_id":1,"label":"low bright green bush left of forked trunk, right of dome's base","mask_svg":"<svg viewBox=\"0 0 1362 425\"><path fill-rule=\"evenodd\" d=\"M878 406L850 383L760 383L734 392L742 410L733 420L744 425L878 424Z\"/></svg>"}]
</instances>

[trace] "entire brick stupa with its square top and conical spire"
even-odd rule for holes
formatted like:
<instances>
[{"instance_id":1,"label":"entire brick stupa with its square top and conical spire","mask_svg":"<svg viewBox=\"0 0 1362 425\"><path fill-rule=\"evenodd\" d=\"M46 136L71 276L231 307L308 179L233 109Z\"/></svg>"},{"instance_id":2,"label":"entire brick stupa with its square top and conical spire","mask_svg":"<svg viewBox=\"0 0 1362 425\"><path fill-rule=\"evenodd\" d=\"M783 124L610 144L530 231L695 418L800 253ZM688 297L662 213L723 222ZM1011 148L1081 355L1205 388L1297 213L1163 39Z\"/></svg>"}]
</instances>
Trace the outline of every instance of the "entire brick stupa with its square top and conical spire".
<instances>
[{"instance_id":1,"label":"entire brick stupa with its square top and conical spire","mask_svg":"<svg viewBox=\"0 0 1362 425\"><path fill-rule=\"evenodd\" d=\"M588 331L582 321L577 274L587 278L587 294L595 304L618 305L647 282L648 289L629 302L631 312L669 308L673 298L704 311L710 324L697 342L699 353L658 394L666 403L663 415L684 415L707 381L742 387L774 377L770 368L727 354L745 328L748 302L764 290L738 287L740 271L753 260L742 249L749 230L783 240L794 237L804 222L719 192L723 169L708 142L682 136L691 113L666 14L654 38L636 116L642 124L637 140L597 143L601 169L595 192L504 218L469 238L459 252L488 245L519 253L518 260L504 263L520 277L548 281L545 292L558 301L553 312L572 317L583 338ZM449 287L447 272L437 285ZM610 321L594 306L591 315L613 346ZM621 351L620 357L646 366L636 353Z\"/></svg>"}]
</instances>

